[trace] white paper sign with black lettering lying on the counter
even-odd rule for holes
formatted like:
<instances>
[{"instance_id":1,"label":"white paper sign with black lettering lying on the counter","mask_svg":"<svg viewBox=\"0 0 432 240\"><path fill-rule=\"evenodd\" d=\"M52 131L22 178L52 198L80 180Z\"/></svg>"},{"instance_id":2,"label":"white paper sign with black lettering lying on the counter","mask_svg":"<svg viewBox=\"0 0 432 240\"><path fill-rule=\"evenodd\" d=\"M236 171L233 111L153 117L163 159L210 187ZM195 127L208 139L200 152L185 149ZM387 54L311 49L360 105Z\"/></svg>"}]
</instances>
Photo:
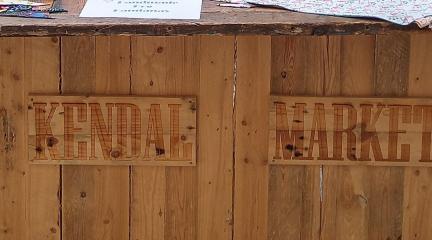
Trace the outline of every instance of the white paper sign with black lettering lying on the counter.
<instances>
[{"instance_id":1,"label":"white paper sign with black lettering lying on the counter","mask_svg":"<svg viewBox=\"0 0 432 240\"><path fill-rule=\"evenodd\" d=\"M202 0L87 0L80 17L199 19Z\"/></svg>"}]
</instances>

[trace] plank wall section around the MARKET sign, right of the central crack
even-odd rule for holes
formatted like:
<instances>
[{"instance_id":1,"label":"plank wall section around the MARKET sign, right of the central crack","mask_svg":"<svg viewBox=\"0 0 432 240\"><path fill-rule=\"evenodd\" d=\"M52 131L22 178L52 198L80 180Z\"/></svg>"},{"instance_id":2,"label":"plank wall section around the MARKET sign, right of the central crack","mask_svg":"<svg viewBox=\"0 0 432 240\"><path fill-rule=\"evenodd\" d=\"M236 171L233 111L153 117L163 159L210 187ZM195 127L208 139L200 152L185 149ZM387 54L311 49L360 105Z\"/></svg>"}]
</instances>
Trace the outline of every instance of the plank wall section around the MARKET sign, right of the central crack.
<instances>
[{"instance_id":1,"label":"plank wall section around the MARKET sign, right of the central crack","mask_svg":"<svg viewBox=\"0 0 432 240\"><path fill-rule=\"evenodd\" d=\"M431 39L430 34L402 33L239 37L235 131L241 141L236 138L235 239L431 238L430 228L425 227L431 214L426 204L431 198L429 169L271 166L267 171L260 162L266 159L259 155L266 141L245 137L267 127L253 118L264 110L249 104L267 101L268 81L273 94L430 97L432 74L427 62L432 51L426 42ZM270 76L263 75L263 69L250 75L242 69L258 64L270 68ZM250 80L257 78L265 83ZM251 93L259 99L245 97ZM252 161L244 160L247 155L254 156ZM247 207L238 207L242 204ZM260 210L266 208L268 214L263 215Z\"/></svg>"}]
</instances>

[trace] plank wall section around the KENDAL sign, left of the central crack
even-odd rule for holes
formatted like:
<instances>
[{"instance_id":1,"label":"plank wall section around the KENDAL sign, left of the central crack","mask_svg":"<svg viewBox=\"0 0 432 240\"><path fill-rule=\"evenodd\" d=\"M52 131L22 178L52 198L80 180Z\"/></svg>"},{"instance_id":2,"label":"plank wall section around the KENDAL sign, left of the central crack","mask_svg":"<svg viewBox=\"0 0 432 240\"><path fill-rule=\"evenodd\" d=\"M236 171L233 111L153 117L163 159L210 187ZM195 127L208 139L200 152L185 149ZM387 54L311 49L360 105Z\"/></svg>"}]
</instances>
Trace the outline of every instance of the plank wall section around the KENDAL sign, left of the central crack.
<instances>
[{"instance_id":1,"label":"plank wall section around the KENDAL sign, left of the central crack","mask_svg":"<svg viewBox=\"0 0 432 240\"><path fill-rule=\"evenodd\" d=\"M0 240L231 239L234 37L0 39ZM26 95L195 95L197 167L29 166Z\"/></svg>"}]
</instances>

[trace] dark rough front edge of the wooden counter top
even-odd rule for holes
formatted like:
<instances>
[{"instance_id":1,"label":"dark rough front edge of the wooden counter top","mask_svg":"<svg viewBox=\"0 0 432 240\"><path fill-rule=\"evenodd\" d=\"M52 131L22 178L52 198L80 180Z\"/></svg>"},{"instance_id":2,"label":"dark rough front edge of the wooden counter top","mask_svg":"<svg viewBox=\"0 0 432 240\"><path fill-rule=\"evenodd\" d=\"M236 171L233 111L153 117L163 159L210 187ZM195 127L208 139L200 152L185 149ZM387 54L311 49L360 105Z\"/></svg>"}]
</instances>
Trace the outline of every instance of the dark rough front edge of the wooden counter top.
<instances>
[{"instance_id":1,"label":"dark rough front edge of the wooden counter top","mask_svg":"<svg viewBox=\"0 0 432 240\"><path fill-rule=\"evenodd\" d=\"M0 26L0 36L76 36L76 35L356 35L391 31L421 30L415 25L397 26L383 23L354 24L85 24ZM431 31L432 33L432 31Z\"/></svg>"}]
</instances>

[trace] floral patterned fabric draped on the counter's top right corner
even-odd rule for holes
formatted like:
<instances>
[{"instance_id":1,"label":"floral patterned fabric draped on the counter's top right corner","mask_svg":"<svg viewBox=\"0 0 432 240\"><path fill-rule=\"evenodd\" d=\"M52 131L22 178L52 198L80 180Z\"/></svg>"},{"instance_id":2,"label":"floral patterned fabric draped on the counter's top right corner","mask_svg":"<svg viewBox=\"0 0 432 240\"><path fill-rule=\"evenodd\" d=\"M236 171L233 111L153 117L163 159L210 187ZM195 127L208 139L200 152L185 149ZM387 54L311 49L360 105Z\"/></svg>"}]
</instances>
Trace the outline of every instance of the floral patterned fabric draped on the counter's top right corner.
<instances>
[{"instance_id":1,"label":"floral patterned fabric draped on the counter's top right corner","mask_svg":"<svg viewBox=\"0 0 432 240\"><path fill-rule=\"evenodd\" d=\"M230 2L230 0L224 0ZM235 0L238 2L239 0ZM400 25L432 22L432 0L243 0L288 10L344 17L374 17Z\"/></svg>"}]
</instances>

